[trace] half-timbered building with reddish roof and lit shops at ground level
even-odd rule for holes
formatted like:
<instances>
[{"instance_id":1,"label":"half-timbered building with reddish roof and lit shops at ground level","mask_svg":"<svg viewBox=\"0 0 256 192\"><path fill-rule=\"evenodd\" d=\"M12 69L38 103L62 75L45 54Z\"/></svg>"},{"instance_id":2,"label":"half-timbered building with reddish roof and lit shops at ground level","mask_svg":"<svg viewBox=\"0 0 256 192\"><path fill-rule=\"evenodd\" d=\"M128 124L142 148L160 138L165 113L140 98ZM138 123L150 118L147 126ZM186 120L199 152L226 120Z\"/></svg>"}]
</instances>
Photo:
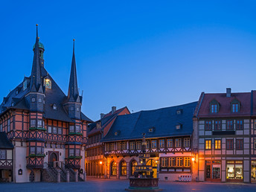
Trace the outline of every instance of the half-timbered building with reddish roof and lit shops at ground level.
<instances>
[{"instance_id":1,"label":"half-timbered building with reddish roof and lit shops at ground level","mask_svg":"<svg viewBox=\"0 0 256 192\"><path fill-rule=\"evenodd\" d=\"M255 180L255 92L206 94L194 114L199 149L199 180L252 182Z\"/></svg>"}]
</instances>

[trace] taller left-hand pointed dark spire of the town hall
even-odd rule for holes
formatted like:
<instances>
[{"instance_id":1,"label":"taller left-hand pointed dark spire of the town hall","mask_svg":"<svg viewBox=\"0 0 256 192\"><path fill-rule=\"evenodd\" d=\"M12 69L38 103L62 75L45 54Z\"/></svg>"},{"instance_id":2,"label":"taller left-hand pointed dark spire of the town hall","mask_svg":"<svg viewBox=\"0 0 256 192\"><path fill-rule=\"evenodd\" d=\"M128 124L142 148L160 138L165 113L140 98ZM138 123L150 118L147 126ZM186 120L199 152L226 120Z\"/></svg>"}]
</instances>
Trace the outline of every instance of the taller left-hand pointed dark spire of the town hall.
<instances>
[{"instance_id":1,"label":"taller left-hand pointed dark spire of the town hall","mask_svg":"<svg viewBox=\"0 0 256 192\"><path fill-rule=\"evenodd\" d=\"M33 65L31 71L31 86L30 89L33 87L36 90L39 89L39 86L42 84L41 80L41 68L40 68L40 54L39 54L39 37L38 37L38 28L36 24L36 44L35 44L35 51L33 52Z\"/></svg>"}]
</instances>

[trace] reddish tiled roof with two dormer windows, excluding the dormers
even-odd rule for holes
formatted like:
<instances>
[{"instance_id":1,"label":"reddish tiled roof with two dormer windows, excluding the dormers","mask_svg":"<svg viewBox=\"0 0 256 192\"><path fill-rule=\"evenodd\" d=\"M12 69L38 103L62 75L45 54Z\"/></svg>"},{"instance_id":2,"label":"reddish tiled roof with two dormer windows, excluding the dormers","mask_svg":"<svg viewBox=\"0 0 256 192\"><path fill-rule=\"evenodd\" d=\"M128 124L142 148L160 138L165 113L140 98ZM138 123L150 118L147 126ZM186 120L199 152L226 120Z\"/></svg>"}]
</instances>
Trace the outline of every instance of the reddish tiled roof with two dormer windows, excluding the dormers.
<instances>
[{"instance_id":1,"label":"reddish tiled roof with two dormer windows, excluding the dormers","mask_svg":"<svg viewBox=\"0 0 256 192\"><path fill-rule=\"evenodd\" d=\"M212 100L217 100L220 103L220 110L217 113L210 112L210 103ZM232 100L240 101L240 112L231 112ZM256 101L256 100L255 100ZM231 93L231 97L226 97L226 93L207 93L202 92L202 98L199 100L199 111L196 115L198 118L225 118L237 116L251 115L252 93L239 92Z\"/></svg>"}]
</instances>

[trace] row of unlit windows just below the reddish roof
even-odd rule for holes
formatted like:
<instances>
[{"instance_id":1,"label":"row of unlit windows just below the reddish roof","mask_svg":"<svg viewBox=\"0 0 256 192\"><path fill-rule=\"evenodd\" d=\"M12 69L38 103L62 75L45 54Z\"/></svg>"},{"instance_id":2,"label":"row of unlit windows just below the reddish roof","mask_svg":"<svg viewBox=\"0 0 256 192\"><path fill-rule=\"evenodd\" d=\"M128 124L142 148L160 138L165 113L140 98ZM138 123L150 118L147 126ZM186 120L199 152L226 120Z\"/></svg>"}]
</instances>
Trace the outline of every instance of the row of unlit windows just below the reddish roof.
<instances>
[{"instance_id":1,"label":"row of unlit windows just below the reddish roof","mask_svg":"<svg viewBox=\"0 0 256 192\"><path fill-rule=\"evenodd\" d=\"M226 121L226 130L234 130L234 124L236 130L243 130L243 120L227 120ZM205 121L205 131L211 130L222 130L222 121L215 120L215 121Z\"/></svg>"}]
</instances>

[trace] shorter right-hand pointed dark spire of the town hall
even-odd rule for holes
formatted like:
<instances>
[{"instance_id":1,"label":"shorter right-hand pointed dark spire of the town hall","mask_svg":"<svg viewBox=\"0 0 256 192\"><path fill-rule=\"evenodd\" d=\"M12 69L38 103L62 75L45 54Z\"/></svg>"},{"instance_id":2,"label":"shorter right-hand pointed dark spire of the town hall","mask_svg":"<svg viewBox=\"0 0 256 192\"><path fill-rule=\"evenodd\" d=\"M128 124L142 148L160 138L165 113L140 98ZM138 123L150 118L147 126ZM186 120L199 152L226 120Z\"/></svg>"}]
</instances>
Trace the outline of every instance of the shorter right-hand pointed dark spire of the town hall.
<instances>
[{"instance_id":1,"label":"shorter right-hand pointed dark spire of the town hall","mask_svg":"<svg viewBox=\"0 0 256 192\"><path fill-rule=\"evenodd\" d=\"M78 96L79 96L79 92L77 88L77 67L76 67L76 60L74 57L74 42L73 42L73 57L72 57L71 72L70 72L69 86L68 86L68 101L75 101L77 100Z\"/></svg>"}]
</instances>

